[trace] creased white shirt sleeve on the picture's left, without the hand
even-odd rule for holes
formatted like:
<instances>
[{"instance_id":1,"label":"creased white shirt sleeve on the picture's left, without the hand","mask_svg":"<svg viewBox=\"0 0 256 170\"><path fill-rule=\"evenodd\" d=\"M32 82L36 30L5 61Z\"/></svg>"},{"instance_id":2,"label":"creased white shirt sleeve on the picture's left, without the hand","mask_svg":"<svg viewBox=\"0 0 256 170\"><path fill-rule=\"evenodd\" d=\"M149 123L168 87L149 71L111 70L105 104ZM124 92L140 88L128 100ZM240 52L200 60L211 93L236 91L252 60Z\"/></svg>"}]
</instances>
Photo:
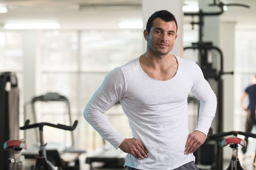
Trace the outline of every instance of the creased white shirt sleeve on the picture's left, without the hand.
<instances>
[{"instance_id":1,"label":"creased white shirt sleeve on the picture's left, without the hand","mask_svg":"<svg viewBox=\"0 0 256 170\"><path fill-rule=\"evenodd\" d=\"M103 113L109 110L109 108L124 96L124 93L124 74L118 67L106 76L102 85L93 94L84 109L84 118L86 121L115 148L118 148L125 138L116 131Z\"/></svg>"}]
</instances>

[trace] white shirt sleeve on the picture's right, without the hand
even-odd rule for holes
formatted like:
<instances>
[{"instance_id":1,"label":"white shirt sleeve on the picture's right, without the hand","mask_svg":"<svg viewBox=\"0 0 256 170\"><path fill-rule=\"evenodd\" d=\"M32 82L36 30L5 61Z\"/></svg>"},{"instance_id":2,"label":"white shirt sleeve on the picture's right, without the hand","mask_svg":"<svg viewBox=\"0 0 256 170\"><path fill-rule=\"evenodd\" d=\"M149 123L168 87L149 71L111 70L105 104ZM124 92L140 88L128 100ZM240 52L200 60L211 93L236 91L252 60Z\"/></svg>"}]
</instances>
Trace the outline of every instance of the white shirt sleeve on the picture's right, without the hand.
<instances>
[{"instance_id":1,"label":"white shirt sleeve on the picture's right, without the hand","mask_svg":"<svg viewBox=\"0 0 256 170\"><path fill-rule=\"evenodd\" d=\"M216 95L212 91L209 83L205 80L204 74L197 64L195 74L195 81L191 92L200 100L198 124L195 130L204 132L207 136L212 119L216 113L217 100Z\"/></svg>"}]
</instances>

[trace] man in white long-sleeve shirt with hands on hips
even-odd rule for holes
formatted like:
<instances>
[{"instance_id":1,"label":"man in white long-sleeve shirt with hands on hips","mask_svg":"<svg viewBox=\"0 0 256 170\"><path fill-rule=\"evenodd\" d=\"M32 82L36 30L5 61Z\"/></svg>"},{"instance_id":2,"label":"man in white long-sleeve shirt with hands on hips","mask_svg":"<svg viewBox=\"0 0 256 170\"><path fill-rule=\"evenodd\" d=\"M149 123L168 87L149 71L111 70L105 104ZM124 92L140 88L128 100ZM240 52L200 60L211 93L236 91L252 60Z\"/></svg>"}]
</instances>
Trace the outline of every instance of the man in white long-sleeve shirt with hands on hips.
<instances>
[{"instance_id":1,"label":"man in white long-sleeve shirt with hands on hips","mask_svg":"<svg viewBox=\"0 0 256 170\"><path fill-rule=\"evenodd\" d=\"M197 169L193 152L204 143L216 111L216 96L195 62L171 55L177 22L156 11L143 32L147 51L105 78L84 110L84 118L115 148L129 153L128 169ZM188 132L189 92L200 99L194 132ZM104 117L120 101L129 119L126 139Z\"/></svg>"}]
</instances>

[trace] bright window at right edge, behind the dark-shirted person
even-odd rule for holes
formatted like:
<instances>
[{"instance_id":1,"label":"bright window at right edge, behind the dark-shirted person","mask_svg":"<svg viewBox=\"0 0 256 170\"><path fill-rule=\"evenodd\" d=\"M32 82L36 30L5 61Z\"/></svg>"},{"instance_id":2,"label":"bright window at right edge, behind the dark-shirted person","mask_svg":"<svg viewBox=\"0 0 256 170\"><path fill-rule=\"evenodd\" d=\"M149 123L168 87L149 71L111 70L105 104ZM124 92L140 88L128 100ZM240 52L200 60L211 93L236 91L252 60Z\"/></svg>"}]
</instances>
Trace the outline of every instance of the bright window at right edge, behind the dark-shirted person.
<instances>
[{"instance_id":1,"label":"bright window at right edge, behind the dark-shirted person","mask_svg":"<svg viewBox=\"0 0 256 170\"><path fill-rule=\"evenodd\" d=\"M239 99L244 89L250 85L253 74L256 73L256 28L236 29L235 55L235 128L244 131L246 113L241 109ZM248 99L244 101L248 104Z\"/></svg>"}]
</instances>

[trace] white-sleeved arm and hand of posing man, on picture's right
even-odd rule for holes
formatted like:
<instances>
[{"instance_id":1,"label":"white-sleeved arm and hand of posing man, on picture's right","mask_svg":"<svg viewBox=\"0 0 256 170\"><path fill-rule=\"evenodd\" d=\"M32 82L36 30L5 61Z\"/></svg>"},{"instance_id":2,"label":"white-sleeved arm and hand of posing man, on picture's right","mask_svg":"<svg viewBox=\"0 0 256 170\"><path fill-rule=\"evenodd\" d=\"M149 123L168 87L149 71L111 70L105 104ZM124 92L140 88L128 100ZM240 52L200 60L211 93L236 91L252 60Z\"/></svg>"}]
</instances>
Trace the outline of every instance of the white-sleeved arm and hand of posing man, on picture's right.
<instances>
[{"instance_id":1,"label":"white-sleeved arm and hand of posing man, on picture's right","mask_svg":"<svg viewBox=\"0 0 256 170\"><path fill-rule=\"evenodd\" d=\"M185 154L195 152L205 142L217 106L216 95L205 80L202 70L197 65L194 76L195 81L191 92L200 100L200 110L197 127L188 136Z\"/></svg>"}]
</instances>

